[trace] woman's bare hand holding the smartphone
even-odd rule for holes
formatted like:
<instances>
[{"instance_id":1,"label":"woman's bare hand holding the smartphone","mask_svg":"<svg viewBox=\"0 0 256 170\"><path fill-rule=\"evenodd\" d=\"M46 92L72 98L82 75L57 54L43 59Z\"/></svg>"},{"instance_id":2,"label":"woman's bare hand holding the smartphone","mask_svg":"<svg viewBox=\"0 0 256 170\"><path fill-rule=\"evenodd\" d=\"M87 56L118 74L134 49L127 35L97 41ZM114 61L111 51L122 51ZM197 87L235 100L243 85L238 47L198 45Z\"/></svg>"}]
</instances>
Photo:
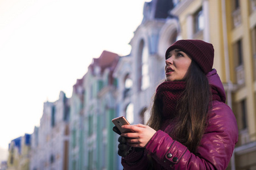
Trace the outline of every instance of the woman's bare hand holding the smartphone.
<instances>
[{"instance_id":1,"label":"woman's bare hand holding the smartphone","mask_svg":"<svg viewBox=\"0 0 256 170\"><path fill-rule=\"evenodd\" d=\"M123 129L134 131L133 133L122 133L121 136L127 137L126 142L132 147L145 147L156 133L156 131L147 125L123 125Z\"/></svg>"}]
</instances>

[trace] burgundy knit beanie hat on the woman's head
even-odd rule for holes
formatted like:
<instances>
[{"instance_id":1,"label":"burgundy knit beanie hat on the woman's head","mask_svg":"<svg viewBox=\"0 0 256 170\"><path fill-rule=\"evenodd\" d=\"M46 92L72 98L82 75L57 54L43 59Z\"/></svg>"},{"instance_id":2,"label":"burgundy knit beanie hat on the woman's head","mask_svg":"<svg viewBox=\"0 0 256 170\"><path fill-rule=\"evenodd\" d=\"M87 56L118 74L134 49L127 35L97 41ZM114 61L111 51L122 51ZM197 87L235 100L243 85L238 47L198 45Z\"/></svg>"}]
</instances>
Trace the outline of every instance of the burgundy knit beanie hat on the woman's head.
<instances>
[{"instance_id":1,"label":"burgundy knit beanie hat on the woman's head","mask_svg":"<svg viewBox=\"0 0 256 170\"><path fill-rule=\"evenodd\" d=\"M166 59L173 49L180 49L187 53L188 56L200 66L205 74L212 71L214 57L212 44L202 40L179 40L174 42L174 44L166 50Z\"/></svg>"}]
</instances>

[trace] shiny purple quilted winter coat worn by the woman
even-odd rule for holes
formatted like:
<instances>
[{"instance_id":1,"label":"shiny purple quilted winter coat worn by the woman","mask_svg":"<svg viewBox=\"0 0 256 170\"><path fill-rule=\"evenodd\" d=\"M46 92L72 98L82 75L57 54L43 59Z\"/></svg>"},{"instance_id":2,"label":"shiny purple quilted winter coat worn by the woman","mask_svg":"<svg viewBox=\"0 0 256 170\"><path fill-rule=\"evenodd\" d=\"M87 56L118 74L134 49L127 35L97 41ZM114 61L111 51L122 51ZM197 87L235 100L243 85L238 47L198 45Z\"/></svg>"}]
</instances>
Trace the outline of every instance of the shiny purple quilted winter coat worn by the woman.
<instances>
[{"instance_id":1,"label":"shiny purple quilted winter coat worn by the woman","mask_svg":"<svg viewBox=\"0 0 256 170\"><path fill-rule=\"evenodd\" d=\"M217 71L210 71L207 78L225 102L224 87ZM238 128L232 110L225 103L214 100L209 123L196 154L158 130L147 143L145 154L137 164L128 165L122 159L122 165L124 169L147 169L149 162L146 154L150 154L155 160L155 169L226 169L237 141Z\"/></svg>"}]
</instances>

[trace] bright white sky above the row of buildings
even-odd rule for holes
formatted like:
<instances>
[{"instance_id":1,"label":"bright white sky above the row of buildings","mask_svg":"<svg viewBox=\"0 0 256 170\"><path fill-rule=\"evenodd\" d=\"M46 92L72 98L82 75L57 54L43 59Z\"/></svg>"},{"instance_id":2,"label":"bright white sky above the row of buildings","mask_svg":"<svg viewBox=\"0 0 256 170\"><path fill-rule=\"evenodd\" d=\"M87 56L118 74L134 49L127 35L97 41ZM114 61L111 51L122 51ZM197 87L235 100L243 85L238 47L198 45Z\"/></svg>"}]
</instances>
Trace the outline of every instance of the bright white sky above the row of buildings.
<instances>
[{"instance_id":1,"label":"bright white sky above the row of buildings","mask_svg":"<svg viewBox=\"0 0 256 170\"><path fill-rule=\"evenodd\" d=\"M32 133L45 101L72 95L103 50L121 56L147 0L0 0L0 148Z\"/></svg>"}]
</instances>

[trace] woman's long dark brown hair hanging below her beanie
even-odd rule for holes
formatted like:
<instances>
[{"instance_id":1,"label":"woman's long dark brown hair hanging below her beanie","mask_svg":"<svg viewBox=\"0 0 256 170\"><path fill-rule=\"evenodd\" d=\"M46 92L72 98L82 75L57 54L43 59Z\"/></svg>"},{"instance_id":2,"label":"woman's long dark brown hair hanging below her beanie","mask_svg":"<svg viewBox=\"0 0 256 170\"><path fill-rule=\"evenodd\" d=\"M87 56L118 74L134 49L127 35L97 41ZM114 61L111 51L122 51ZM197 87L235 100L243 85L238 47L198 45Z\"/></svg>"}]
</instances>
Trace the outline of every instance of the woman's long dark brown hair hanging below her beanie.
<instances>
[{"instance_id":1,"label":"woman's long dark brown hair hanging below her beanie","mask_svg":"<svg viewBox=\"0 0 256 170\"><path fill-rule=\"evenodd\" d=\"M207 125L208 108L211 100L210 85L207 77L192 60L184 78L186 87L177 101L177 116L174 127L175 140L187 146L191 152L196 152ZM162 104L156 100L151 107L151 116L147 122L151 128L159 130L162 125Z\"/></svg>"}]
</instances>

